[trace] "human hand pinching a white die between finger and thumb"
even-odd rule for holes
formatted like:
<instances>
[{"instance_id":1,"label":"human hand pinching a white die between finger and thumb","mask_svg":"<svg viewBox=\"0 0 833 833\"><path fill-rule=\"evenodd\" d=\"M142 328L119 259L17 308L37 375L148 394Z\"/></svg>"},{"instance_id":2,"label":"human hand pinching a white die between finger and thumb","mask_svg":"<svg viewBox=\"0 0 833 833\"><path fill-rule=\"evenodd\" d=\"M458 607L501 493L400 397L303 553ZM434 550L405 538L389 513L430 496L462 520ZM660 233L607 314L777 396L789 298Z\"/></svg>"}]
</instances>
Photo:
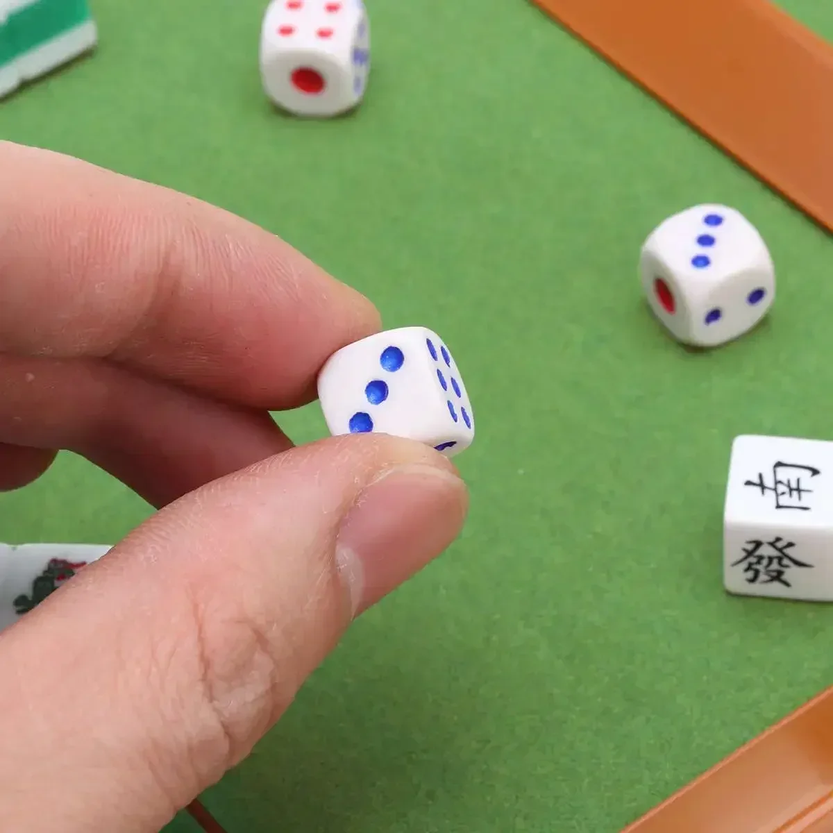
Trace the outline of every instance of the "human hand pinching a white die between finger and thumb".
<instances>
[{"instance_id":1,"label":"human hand pinching a white die between finger and thumb","mask_svg":"<svg viewBox=\"0 0 833 833\"><path fill-rule=\"evenodd\" d=\"M71 449L163 507L0 634L2 829L158 831L454 539L466 490L427 446L272 421L379 327L277 237L3 142L0 182L0 488Z\"/></svg>"}]
</instances>

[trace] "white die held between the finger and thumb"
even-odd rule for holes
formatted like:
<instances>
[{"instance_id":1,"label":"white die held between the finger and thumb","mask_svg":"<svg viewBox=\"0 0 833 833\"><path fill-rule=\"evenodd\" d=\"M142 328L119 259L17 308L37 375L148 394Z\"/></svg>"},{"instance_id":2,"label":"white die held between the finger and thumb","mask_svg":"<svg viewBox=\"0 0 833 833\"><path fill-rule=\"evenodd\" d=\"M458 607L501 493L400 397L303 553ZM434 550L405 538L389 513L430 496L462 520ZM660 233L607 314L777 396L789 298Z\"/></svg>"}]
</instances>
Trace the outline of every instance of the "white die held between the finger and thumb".
<instances>
[{"instance_id":1,"label":"white die held between the finger and thumb","mask_svg":"<svg viewBox=\"0 0 833 833\"><path fill-rule=\"evenodd\" d=\"M474 439L474 414L442 339L401 327L342 347L318 375L318 398L333 435L378 431L424 442L446 456Z\"/></svg>"}]
</instances>

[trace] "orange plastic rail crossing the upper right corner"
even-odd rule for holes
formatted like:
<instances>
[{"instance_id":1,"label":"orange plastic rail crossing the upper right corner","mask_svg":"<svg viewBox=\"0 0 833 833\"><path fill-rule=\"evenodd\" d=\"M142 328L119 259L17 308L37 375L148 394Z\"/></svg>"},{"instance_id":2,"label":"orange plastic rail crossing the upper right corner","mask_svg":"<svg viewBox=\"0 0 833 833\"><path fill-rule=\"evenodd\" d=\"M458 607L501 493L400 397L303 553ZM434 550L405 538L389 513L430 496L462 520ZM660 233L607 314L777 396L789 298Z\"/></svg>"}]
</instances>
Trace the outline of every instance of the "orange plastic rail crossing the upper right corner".
<instances>
[{"instance_id":1,"label":"orange plastic rail crossing the upper right corner","mask_svg":"<svg viewBox=\"0 0 833 833\"><path fill-rule=\"evenodd\" d=\"M833 231L833 47L821 37L766 0L533 2Z\"/></svg>"}]
</instances>

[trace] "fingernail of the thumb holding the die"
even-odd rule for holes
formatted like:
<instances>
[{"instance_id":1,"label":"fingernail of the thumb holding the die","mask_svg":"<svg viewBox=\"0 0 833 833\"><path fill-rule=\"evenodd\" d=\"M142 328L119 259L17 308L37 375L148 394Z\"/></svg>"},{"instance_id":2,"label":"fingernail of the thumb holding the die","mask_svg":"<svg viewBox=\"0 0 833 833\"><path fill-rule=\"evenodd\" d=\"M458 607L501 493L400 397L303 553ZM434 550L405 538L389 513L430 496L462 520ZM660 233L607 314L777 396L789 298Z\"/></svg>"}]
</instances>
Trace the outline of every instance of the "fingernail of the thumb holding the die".
<instances>
[{"instance_id":1,"label":"fingernail of the thumb holding the die","mask_svg":"<svg viewBox=\"0 0 833 833\"><path fill-rule=\"evenodd\" d=\"M436 558L460 533L466 486L450 471L403 466L372 481L338 533L337 564L353 615Z\"/></svg>"}]
</instances>

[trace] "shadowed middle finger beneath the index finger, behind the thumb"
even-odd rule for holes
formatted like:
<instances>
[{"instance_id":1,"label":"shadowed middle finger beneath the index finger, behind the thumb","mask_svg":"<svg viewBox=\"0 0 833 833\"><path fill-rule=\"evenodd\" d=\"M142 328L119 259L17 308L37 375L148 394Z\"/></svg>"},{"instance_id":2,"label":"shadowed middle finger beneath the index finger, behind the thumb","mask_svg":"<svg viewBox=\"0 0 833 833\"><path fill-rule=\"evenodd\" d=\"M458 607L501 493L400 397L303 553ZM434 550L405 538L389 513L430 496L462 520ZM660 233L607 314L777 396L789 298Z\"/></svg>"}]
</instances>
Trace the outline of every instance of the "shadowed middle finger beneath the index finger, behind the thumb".
<instances>
[{"instance_id":1,"label":"shadowed middle finger beneath the index finger, behind the thumb","mask_svg":"<svg viewBox=\"0 0 833 833\"><path fill-rule=\"evenodd\" d=\"M18 456L28 452L30 464L38 449L41 459L51 449L75 451L152 506L292 447L265 411L100 360L8 354L0 354L0 442L29 446Z\"/></svg>"}]
</instances>

